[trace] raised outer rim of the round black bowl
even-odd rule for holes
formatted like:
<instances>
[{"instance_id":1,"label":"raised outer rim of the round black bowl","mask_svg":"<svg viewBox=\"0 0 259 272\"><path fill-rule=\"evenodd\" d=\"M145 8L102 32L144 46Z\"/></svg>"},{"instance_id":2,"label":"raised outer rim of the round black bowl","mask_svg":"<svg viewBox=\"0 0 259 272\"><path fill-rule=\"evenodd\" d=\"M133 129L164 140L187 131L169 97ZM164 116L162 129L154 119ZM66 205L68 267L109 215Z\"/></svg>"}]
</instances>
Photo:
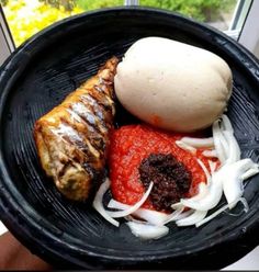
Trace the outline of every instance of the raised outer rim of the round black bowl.
<instances>
[{"instance_id":1,"label":"raised outer rim of the round black bowl","mask_svg":"<svg viewBox=\"0 0 259 272\"><path fill-rule=\"evenodd\" d=\"M65 27L66 24L70 24L70 22L76 22L77 20L81 20L83 18L91 18L91 16L95 16L99 14L105 14L105 13L111 13L111 12L134 12L134 11L140 11L140 12L149 12L149 13L156 13L159 15L169 15L169 16L174 16L177 19L180 19L182 21L184 21L185 23L194 23L195 27L201 27L203 30L206 30L206 32L213 32L214 34L216 33L217 36L222 37L222 39L227 41L233 47L235 47L235 50L238 50L243 54L243 56L245 56L247 59L249 59L249 61L252 63L254 68L259 69L259 64L257 63L257 59L255 59L255 56L252 56L245 47L243 47L240 44L237 44L235 41L233 41L230 37L226 36L225 34L221 33L219 31L214 30L211 26L204 25L203 23L198 23L194 20L188 19L185 16L182 16L180 14L176 14L173 12L169 12L166 10L159 10L159 9L155 9L155 8L145 8L145 7L119 7L119 8L110 8L110 9L100 9L100 10L95 10L95 11L91 11L91 12L85 12L82 14L78 14L75 15L72 18L68 18L65 19L60 22L57 22L50 26L48 26L47 29L45 29L44 31L37 33L36 35L34 35L32 38L30 38L29 41L26 41L23 45L21 45L20 47L18 47L15 49L15 52L5 60L5 63L2 65L1 70L0 70L0 89L2 89L2 92L0 94L0 124L2 123L2 118L3 118L3 111L4 111L4 103L7 100L7 97L9 94L9 90L11 88L11 83L13 80L15 81L15 78L18 78L21 72L23 71L23 69L25 69L27 63L30 61L30 55L29 53L31 50L33 50L33 47L35 44L38 43L38 38L42 37L47 37L52 32L55 32L55 30L59 26ZM234 48L232 48L234 50ZM23 64L23 69L19 68L19 63L20 61L24 61ZM244 66L246 68L248 68L245 64ZM250 67L249 67L250 68ZM15 71L13 73L13 71ZM249 69L249 72L255 77L255 73ZM4 224L7 224L8 228L14 234L14 236L16 238L19 238L19 240L21 240L24 245L27 245L30 247L31 250L33 250L34 252L36 252L38 256L45 258L45 252L44 250L48 250L50 252L53 252L53 250L49 247L46 247L44 250L41 251L41 249L37 249L37 247L35 247L35 245L33 245L34 242L37 245L38 240L30 235L26 229L22 229L22 231L18 231L15 229L15 227L20 227L21 230L21 222L23 222L23 226L27 225L30 223L30 227L33 226L35 231L41 233L42 231L42 226L40 226L38 224L36 224L35 222L32 220L32 218L23 218L21 211L23 211L18 203L15 203L13 201L13 195L8 191L7 188L4 188L4 183L7 185L7 183L11 184L11 178L7 171L7 166L4 163L4 155L3 155L3 148L2 148L2 140L1 140L2 135L0 134L0 143L1 143L1 148L0 148L0 180L1 180L1 184L0 184L0 193L1 193L1 199L0 199L0 211L1 213L3 213L4 215L2 216L2 220ZM4 178L3 178L4 177ZM2 182L2 179L4 179L5 181ZM8 216L8 214L12 214L12 218L11 216ZM15 216L16 218L14 218ZM257 226L256 226L257 225ZM15 227L14 227L15 226ZM252 222L250 222L250 226L248 226L250 229L256 228L259 229L259 222L257 220L256 224L256 219L254 219ZM19 233L19 234L18 234ZM23 235L30 237L30 241L27 241L25 238L23 238ZM45 234L46 235L46 234ZM244 234L245 236L245 234ZM26 237L26 238L27 238ZM49 238L49 237L47 237ZM233 239L237 239L240 238L240 234L236 233L235 235L233 234L233 236L229 238L229 240L225 240L224 243L226 243L227 241L230 241ZM259 239L258 239L259 240ZM65 246L67 247L67 243L63 243L60 240L60 246ZM219 242L217 243L219 245ZM215 245L211 246L214 247ZM207 247L206 247L207 249ZM72 252L72 248L69 248L69 250L71 250ZM167 250L168 251L168 250ZM199 248L199 252L201 251L201 248ZM55 254L57 254L58 252L53 252ZM89 257L92 258L104 258L104 260L106 259L111 259L111 260L116 260L116 261L128 261L128 262L147 262L147 261L154 261L154 260L165 260L170 258L169 256L165 256L164 252L161 253L162 256L156 256L156 258L154 259L154 257L150 257L150 259L148 259L147 257L128 257L126 260L124 257L117 257L117 256L111 256L111 254L100 254L100 253L95 253L95 252L88 252ZM182 256L183 252L181 252L180 254L174 254L173 258L180 257ZM188 253L188 252L185 252ZM195 254L195 251L192 251L190 254ZM59 256L60 258L60 256ZM86 264L83 264L86 267ZM90 264L89 264L90 265ZM89 267L91 268L91 265Z\"/></svg>"}]
</instances>

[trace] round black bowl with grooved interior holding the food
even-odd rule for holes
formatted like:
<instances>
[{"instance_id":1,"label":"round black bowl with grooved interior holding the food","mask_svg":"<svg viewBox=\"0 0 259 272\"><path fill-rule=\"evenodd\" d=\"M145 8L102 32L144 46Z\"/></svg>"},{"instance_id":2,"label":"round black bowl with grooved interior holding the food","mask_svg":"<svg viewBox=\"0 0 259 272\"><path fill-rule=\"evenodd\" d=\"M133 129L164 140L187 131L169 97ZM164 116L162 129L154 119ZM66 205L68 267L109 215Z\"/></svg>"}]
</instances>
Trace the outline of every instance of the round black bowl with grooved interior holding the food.
<instances>
[{"instance_id":1,"label":"round black bowl with grooved interior holding the food","mask_svg":"<svg viewBox=\"0 0 259 272\"><path fill-rule=\"evenodd\" d=\"M111 226L90 204L66 201L42 171L34 122L109 57L122 56L134 41L149 35L206 48L229 64L234 93L228 116L243 157L258 161L259 66L232 38L180 15L144 8L100 10L48 27L1 68L0 215L32 252L58 268L221 269L258 245L259 177L246 186L247 214L222 214L201 228L172 224L168 236L140 241L124 224Z\"/></svg>"}]
</instances>

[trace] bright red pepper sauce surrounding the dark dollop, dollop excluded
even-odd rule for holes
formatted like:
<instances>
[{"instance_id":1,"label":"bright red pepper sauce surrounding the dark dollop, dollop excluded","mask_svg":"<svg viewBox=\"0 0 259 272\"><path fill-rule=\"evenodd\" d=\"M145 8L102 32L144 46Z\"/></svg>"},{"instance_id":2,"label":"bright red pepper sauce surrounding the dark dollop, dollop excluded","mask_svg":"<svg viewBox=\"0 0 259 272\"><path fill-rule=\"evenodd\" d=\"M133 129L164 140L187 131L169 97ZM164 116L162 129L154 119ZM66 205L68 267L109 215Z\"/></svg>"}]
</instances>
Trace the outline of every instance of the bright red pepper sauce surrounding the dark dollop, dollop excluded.
<instances>
[{"instance_id":1,"label":"bright red pepper sauce surrounding the dark dollop, dollop excluded","mask_svg":"<svg viewBox=\"0 0 259 272\"><path fill-rule=\"evenodd\" d=\"M205 174L196 159L209 167L209 158L198 149L192 155L177 146L176 140L185 134L167 133L147 125L127 125L115 129L111 135L109 167L113 197L122 203L133 205L143 196L145 189L139 181L138 167L150 154L171 154L192 173L192 184L187 196L198 193L198 184L205 182ZM215 160L214 160L215 161ZM150 201L143 207L154 209Z\"/></svg>"}]
</instances>

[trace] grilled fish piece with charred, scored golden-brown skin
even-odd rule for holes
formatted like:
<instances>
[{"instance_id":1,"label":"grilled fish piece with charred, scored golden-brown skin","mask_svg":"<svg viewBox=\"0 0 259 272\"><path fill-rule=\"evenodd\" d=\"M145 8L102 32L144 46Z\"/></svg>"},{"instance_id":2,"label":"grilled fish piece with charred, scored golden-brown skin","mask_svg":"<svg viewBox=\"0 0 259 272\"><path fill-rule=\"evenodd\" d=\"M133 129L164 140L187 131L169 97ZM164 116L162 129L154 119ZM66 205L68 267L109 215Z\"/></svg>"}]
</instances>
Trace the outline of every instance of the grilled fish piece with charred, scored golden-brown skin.
<instances>
[{"instance_id":1,"label":"grilled fish piece with charred, scored golden-brown skin","mask_svg":"<svg viewBox=\"0 0 259 272\"><path fill-rule=\"evenodd\" d=\"M88 199L105 167L115 114L112 57L95 76L36 121L34 139L46 174L66 197Z\"/></svg>"}]
</instances>

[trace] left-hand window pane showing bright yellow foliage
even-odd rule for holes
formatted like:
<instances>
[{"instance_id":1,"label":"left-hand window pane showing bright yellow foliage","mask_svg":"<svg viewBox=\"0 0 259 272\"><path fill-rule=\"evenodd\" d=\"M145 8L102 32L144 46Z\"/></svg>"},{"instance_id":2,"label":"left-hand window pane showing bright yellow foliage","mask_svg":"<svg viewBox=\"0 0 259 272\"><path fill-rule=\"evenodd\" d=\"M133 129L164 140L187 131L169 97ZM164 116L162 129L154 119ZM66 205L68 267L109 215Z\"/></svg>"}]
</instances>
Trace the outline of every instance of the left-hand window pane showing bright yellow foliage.
<instances>
[{"instance_id":1,"label":"left-hand window pane showing bright yellow foliage","mask_svg":"<svg viewBox=\"0 0 259 272\"><path fill-rule=\"evenodd\" d=\"M56 21L83 11L123 5L123 0L0 0L15 45Z\"/></svg>"}]
</instances>

